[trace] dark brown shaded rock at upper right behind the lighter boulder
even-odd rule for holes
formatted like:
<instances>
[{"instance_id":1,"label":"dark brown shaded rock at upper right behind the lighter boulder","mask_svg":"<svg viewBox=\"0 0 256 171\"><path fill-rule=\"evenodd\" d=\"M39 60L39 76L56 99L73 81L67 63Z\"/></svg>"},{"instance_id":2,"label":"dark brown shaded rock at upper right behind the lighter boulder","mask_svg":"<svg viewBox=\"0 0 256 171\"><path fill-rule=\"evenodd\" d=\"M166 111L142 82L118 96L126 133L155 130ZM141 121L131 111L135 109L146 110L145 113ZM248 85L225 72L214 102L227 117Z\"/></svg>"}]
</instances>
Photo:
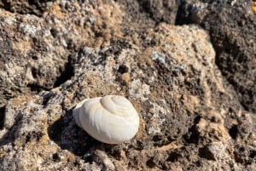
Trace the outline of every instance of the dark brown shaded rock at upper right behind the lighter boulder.
<instances>
[{"instance_id":1,"label":"dark brown shaded rock at upper right behind the lighter boulder","mask_svg":"<svg viewBox=\"0 0 256 171\"><path fill-rule=\"evenodd\" d=\"M241 104L256 113L256 3L251 0L183 1L178 24L205 28L216 50L216 64L234 86ZM167 21L167 20L166 20ZM255 117L255 116L254 116ZM256 120L255 120L256 122Z\"/></svg>"}]
</instances>

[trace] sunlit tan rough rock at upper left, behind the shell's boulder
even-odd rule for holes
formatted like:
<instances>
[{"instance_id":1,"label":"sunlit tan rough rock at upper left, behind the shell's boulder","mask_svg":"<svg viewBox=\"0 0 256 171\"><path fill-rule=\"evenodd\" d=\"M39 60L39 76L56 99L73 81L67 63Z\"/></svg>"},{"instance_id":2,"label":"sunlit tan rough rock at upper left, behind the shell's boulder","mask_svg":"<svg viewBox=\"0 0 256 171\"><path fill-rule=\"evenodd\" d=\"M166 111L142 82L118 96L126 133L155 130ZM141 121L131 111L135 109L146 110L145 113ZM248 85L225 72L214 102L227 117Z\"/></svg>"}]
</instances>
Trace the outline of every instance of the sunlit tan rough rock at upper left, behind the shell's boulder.
<instances>
[{"instance_id":1,"label":"sunlit tan rough rock at upper left, behind the shell's boulder","mask_svg":"<svg viewBox=\"0 0 256 171\"><path fill-rule=\"evenodd\" d=\"M83 44L107 46L119 36L117 5L92 10L94 5L54 3L43 18L1 10L0 107L19 94L59 86L73 75L73 51Z\"/></svg>"}]
</instances>

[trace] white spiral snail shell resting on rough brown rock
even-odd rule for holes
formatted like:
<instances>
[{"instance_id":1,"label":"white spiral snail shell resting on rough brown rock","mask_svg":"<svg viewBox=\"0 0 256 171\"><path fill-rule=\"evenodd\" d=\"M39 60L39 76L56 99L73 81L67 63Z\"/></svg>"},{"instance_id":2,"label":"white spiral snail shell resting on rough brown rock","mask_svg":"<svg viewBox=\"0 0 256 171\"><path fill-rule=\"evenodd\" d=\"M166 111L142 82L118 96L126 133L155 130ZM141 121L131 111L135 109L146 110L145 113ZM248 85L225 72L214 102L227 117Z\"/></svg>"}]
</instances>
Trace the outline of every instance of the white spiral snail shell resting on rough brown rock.
<instances>
[{"instance_id":1,"label":"white spiral snail shell resting on rough brown rock","mask_svg":"<svg viewBox=\"0 0 256 171\"><path fill-rule=\"evenodd\" d=\"M136 109L119 95L85 99L74 108L73 117L90 136L108 144L131 140L139 127Z\"/></svg>"}]
</instances>

